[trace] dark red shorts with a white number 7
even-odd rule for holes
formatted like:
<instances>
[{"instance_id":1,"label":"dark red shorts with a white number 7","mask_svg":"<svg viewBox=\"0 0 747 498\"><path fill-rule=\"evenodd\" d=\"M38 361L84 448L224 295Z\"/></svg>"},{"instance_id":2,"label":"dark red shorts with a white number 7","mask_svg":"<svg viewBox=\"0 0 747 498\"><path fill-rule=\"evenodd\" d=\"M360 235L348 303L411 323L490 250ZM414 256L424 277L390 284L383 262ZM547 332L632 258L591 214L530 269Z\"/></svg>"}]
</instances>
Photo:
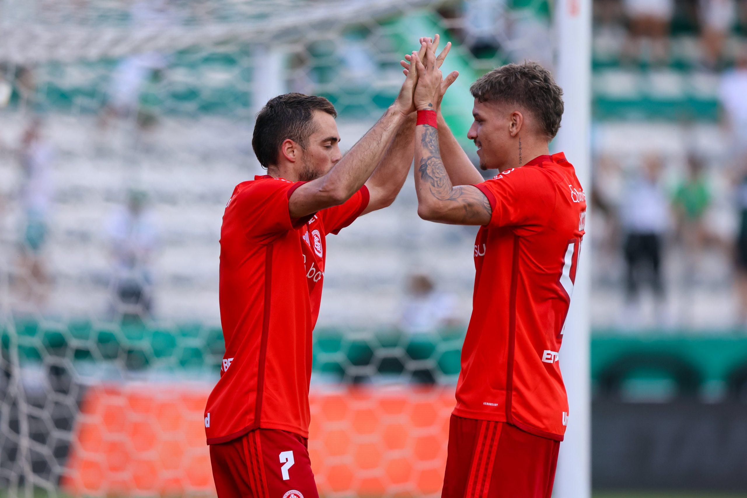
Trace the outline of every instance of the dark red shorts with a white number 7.
<instances>
[{"instance_id":1,"label":"dark red shorts with a white number 7","mask_svg":"<svg viewBox=\"0 0 747 498\"><path fill-rule=\"evenodd\" d=\"M293 432L257 429L211 444L218 497L319 498L306 441Z\"/></svg>"}]
</instances>

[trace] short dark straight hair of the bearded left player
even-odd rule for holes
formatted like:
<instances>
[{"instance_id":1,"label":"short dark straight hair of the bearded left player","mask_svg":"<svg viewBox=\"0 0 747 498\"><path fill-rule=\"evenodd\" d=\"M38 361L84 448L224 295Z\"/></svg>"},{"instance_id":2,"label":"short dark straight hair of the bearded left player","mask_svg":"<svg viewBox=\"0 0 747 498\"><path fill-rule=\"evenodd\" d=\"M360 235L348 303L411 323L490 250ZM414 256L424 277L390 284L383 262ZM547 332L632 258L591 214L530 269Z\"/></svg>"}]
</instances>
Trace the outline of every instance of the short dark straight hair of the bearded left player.
<instances>
[{"instance_id":1,"label":"short dark straight hair of the bearded left player","mask_svg":"<svg viewBox=\"0 0 747 498\"><path fill-rule=\"evenodd\" d=\"M252 135L252 149L262 167L276 163L283 140L291 139L306 149L309 136L314 133L313 111L337 117L335 106L324 97L285 93L267 101L257 113Z\"/></svg>"}]
</instances>

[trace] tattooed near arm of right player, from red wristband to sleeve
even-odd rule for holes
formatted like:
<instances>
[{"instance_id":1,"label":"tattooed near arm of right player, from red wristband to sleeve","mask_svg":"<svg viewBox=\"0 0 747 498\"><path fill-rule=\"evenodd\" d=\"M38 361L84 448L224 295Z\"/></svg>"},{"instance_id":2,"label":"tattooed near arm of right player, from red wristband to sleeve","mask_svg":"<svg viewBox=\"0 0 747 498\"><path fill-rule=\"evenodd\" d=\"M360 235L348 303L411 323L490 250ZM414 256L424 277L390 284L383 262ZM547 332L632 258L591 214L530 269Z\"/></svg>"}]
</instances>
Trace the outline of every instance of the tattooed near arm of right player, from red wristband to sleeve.
<instances>
[{"instance_id":1,"label":"tattooed near arm of right player, from red wristband to sleeve","mask_svg":"<svg viewBox=\"0 0 747 498\"><path fill-rule=\"evenodd\" d=\"M471 185L453 187L449 175L444 169L441 161L441 153L438 151L438 130L430 125L424 127L421 137L423 146L423 157L418 165L421 178L427 182L430 193L436 199L444 202L456 202L464 210L458 220L468 224L475 220L484 219L492 214L492 208L488 198L477 188Z\"/></svg>"}]
</instances>

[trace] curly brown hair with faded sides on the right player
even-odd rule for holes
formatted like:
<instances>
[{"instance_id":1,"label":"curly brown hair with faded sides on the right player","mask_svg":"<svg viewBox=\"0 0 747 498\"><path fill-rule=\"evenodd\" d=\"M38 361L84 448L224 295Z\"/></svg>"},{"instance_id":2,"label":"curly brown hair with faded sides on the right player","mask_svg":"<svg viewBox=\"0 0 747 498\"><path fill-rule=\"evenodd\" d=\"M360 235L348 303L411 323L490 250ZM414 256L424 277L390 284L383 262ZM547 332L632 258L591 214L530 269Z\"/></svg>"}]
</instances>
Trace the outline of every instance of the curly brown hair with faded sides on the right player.
<instances>
[{"instance_id":1,"label":"curly brown hair with faded sides on the right player","mask_svg":"<svg viewBox=\"0 0 747 498\"><path fill-rule=\"evenodd\" d=\"M548 140L557 135L563 111L562 88L538 63L498 67L475 81L469 90L478 102L520 105L539 119Z\"/></svg>"}]
</instances>

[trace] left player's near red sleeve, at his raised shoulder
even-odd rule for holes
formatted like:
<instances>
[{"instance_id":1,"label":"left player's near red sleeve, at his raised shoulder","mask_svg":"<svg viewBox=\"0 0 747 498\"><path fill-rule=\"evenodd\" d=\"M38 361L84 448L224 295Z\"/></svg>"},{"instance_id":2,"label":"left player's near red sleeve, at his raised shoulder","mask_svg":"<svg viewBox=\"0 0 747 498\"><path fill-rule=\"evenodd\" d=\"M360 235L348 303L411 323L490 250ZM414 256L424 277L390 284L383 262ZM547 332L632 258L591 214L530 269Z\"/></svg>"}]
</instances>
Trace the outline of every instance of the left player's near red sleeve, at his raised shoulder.
<instances>
[{"instance_id":1,"label":"left player's near red sleeve, at his raised shoulder","mask_svg":"<svg viewBox=\"0 0 747 498\"><path fill-rule=\"evenodd\" d=\"M234 190L226 212L233 211L247 237L269 243L284 231L292 230L311 220L314 214L291 219L288 199L305 181L267 178L240 184ZM243 187L243 188L242 188Z\"/></svg>"}]
</instances>

